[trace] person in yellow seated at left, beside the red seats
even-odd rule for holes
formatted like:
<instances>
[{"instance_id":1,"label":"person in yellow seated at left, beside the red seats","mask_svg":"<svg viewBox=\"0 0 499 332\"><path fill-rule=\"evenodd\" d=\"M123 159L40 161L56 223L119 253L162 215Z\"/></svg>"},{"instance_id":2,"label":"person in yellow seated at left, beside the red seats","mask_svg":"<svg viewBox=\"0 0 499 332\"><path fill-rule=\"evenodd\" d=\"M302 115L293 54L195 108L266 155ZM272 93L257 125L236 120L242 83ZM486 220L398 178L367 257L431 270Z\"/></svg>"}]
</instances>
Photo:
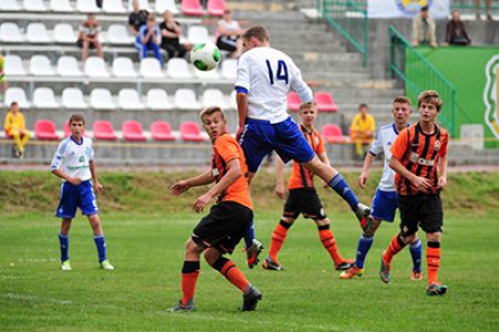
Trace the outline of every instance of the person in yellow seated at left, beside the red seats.
<instances>
[{"instance_id":1,"label":"person in yellow seated at left, beside the red seats","mask_svg":"<svg viewBox=\"0 0 499 332\"><path fill-rule=\"evenodd\" d=\"M24 156L24 145L30 139L31 133L26 128L24 115L22 115L19 110L17 102L10 104L10 110L6 115L3 129L6 131L7 137L16 141L16 157L22 158Z\"/></svg>"}]
</instances>

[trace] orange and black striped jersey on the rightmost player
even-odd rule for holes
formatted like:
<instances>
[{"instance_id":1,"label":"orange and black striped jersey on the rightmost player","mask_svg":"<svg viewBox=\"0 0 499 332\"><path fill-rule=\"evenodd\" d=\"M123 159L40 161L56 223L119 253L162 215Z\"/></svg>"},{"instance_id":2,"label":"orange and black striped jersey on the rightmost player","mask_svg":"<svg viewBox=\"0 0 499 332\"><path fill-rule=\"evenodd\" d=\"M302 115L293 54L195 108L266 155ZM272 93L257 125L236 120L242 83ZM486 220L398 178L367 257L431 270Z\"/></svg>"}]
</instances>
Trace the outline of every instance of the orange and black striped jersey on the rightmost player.
<instances>
[{"instance_id":1,"label":"orange and black striped jersey on the rightmost player","mask_svg":"<svg viewBox=\"0 0 499 332\"><path fill-rule=\"evenodd\" d=\"M391 145L391 155L410 173L430 180L428 194L438 191L438 158L447 155L449 134L435 125L432 134L422 133L419 123L400 132ZM395 188L399 195L416 195L420 191L405 177L395 174Z\"/></svg>"}]
</instances>

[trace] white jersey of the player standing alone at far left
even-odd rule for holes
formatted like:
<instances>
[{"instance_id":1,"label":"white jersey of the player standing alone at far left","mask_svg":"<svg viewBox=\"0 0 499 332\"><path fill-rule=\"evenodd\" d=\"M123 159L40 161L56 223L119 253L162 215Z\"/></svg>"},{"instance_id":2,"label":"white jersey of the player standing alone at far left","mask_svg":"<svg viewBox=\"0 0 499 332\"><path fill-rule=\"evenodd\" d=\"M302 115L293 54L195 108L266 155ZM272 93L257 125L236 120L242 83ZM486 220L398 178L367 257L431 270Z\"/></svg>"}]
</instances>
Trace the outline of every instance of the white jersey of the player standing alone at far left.
<instances>
[{"instance_id":1,"label":"white jersey of the player standing alone at far left","mask_svg":"<svg viewBox=\"0 0 499 332\"><path fill-rule=\"evenodd\" d=\"M72 136L68 136L59 144L58 151L53 156L50 170L62 169L71 177L79 177L82 180L92 178L90 173L90 160L93 160L92 139L83 137L79 144Z\"/></svg>"}]
</instances>

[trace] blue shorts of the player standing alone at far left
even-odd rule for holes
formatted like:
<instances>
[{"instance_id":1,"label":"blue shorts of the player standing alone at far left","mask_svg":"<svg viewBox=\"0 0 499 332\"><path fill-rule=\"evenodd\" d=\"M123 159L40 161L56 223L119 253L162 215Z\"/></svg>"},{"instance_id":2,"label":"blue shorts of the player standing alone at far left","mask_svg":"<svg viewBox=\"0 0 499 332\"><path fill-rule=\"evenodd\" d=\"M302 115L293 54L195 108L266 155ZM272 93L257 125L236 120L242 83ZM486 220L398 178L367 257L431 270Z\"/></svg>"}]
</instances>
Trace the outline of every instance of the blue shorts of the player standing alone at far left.
<instances>
[{"instance_id":1,"label":"blue shorts of the player standing alone at far left","mask_svg":"<svg viewBox=\"0 0 499 332\"><path fill-rule=\"evenodd\" d=\"M73 219L80 208L83 215L93 216L99 212L95 194L91 180L82 181L74 186L68 181L61 186L61 200L59 201L55 217Z\"/></svg>"}]
</instances>

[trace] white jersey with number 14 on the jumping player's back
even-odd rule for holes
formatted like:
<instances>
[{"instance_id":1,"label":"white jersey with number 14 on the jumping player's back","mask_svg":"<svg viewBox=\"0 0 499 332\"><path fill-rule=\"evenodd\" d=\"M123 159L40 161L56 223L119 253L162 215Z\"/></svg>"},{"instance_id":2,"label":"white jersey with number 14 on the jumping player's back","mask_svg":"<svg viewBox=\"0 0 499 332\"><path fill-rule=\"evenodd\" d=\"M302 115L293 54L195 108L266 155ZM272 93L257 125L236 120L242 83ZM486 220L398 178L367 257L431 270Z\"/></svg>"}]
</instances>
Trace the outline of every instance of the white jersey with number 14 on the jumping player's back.
<instances>
[{"instance_id":1,"label":"white jersey with number 14 on the jumping player's back","mask_svg":"<svg viewBox=\"0 0 499 332\"><path fill-rule=\"evenodd\" d=\"M247 116L271 123L283 122L289 116L289 89L298 94L303 103L313 100L312 90L303 81L302 72L293 60L272 48L254 48L241 55L235 86L247 90Z\"/></svg>"}]
</instances>

